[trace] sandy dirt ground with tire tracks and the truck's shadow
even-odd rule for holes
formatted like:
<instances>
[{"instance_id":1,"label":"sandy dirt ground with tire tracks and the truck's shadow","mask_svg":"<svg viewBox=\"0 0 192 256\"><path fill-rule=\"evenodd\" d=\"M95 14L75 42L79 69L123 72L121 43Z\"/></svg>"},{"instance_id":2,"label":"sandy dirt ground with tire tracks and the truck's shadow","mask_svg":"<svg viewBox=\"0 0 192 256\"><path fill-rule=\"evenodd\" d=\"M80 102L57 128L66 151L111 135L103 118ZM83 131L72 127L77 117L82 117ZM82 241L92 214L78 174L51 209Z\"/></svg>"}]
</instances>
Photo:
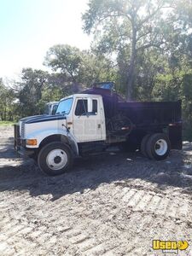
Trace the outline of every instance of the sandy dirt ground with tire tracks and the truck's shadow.
<instances>
[{"instance_id":1,"label":"sandy dirt ground with tire tracks and the truck's shadow","mask_svg":"<svg viewBox=\"0 0 192 256\"><path fill-rule=\"evenodd\" d=\"M192 255L192 144L160 162L114 148L47 177L0 128L0 255L164 255L159 239Z\"/></svg>"}]
</instances>

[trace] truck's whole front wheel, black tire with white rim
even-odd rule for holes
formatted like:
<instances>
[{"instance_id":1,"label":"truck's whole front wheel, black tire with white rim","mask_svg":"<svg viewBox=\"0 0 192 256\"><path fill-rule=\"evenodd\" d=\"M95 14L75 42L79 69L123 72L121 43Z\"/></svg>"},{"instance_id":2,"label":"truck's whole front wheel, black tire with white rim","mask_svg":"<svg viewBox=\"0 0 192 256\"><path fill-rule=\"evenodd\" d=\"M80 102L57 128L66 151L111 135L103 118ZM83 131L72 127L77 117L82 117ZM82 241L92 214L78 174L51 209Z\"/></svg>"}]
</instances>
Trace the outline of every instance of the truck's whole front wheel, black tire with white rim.
<instances>
[{"instance_id":1,"label":"truck's whole front wheel, black tire with white rim","mask_svg":"<svg viewBox=\"0 0 192 256\"><path fill-rule=\"evenodd\" d=\"M49 176L60 175L73 165L71 149L63 143L49 143L38 154L39 169Z\"/></svg>"}]
</instances>

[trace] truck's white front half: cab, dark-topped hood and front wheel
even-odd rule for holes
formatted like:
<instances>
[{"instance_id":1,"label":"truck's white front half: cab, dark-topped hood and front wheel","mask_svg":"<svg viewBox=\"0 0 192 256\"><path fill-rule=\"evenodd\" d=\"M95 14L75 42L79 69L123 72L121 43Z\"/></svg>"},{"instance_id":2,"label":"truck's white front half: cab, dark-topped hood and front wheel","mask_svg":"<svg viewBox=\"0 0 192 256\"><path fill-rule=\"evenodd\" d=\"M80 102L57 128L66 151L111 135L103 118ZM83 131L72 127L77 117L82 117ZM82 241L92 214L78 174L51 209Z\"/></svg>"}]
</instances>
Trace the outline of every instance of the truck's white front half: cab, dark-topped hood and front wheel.
<instances>
[{"instance_id":1,"label":"truck's white front half: cab, dark-topped hood and front wheel","mask_svg":"<svg viewBox=\"0 0 192 256\"><path fill-rule=\"evenodd\" d=\"M81 144L106 140L102 96L75 94L62 98L55 115L20 121L19 150L38 160L49 175L67 169ZM20 153L22 153L20 150Z\"/></svg>"}]
</instances>

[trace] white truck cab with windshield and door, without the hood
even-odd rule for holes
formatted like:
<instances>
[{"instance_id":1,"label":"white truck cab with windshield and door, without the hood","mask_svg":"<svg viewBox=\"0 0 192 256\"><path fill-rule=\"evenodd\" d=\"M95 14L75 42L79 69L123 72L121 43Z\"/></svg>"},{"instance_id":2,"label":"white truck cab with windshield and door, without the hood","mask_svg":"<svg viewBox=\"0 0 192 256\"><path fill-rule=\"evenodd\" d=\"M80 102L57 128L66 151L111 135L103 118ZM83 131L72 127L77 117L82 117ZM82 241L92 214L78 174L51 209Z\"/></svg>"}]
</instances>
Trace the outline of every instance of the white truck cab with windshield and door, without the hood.
<instances>
[{"instance_id":1,"label":"white truck cab with windshield and door, without the hood","mask_svg":"<svg viewBox=\"0 0 192 256\"><path fill-rule=\"evenodd\" d=\"M63 113L66 117L67 129L73 134L77 143L106 139L102 96L77 94L63 98L56 114Z\"/></svg>"}]
</instances>

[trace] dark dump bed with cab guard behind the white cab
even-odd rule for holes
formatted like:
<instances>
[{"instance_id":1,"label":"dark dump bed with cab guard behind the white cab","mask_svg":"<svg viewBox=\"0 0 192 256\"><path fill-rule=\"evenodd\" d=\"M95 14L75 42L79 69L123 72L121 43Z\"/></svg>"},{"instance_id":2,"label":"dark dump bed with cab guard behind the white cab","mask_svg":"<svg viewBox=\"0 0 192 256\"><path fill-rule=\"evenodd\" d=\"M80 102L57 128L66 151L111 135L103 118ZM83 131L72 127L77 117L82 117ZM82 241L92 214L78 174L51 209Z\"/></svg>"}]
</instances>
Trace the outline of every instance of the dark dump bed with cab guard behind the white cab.
<instances>
[{"instance_id":1,"label":"dark dump bed with cab guard behind the white cab","mask_svg":"<svg viewBox=\"0 0 192 256\"><path fill-rule=\"evenodd\" d=\"M182 148L182 112L181 101L177 102L125 102L113 90L93 87L84 90L86 94L101 95L107 124L122 123L126 120L131 124L131 133L134 137L143 137L144 133L169 133L172 148ZM116 125L117 126L117 125ZM136 136L137 135L137 136Z\"/></svg>"}]
</instances>

